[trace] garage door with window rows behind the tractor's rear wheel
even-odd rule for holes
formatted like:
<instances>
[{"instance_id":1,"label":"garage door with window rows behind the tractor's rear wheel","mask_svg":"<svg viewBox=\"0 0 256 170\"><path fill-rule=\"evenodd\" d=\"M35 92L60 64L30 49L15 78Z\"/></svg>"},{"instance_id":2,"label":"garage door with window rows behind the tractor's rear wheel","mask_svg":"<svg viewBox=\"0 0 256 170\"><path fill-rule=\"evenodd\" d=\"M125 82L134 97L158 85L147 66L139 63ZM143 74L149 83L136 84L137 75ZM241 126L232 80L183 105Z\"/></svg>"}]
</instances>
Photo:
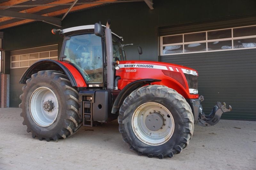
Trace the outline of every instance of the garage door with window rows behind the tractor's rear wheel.
<instances>
[{"instance_id":1,"label":"garage door with window rows behind the tractor's rear wheel","mask_svg":"<svg viewBox=\"0 0 256 170\"><path fill-rule=\"evenodd\" d=\"M33 63L40 59L58 58L58 45L30 48L24 50L11 51L11 70L10 70L10 107L19 107L21 102L23 84L19 84L22 74Z\"/></svg>"}]
</instances>

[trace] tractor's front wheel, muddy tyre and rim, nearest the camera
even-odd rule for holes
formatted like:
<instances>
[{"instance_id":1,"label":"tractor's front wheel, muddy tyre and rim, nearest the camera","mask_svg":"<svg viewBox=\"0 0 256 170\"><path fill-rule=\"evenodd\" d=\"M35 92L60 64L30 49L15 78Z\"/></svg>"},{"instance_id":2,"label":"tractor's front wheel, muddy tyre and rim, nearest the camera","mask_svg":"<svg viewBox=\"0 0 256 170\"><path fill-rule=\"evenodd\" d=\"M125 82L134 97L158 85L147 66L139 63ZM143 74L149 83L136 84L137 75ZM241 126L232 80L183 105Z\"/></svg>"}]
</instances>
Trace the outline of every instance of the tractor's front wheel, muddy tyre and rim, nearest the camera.
<instances>
[{"instance_id":1,"label":"tractor's front wheel, muddy tyre and rim, nearest the camera","mask_svg":"<svg viewBox=\"0 0 256 170\"><path fill-rule=\"evenodd\" d=\"M184 97L166 86L134 90L120 108L119 132L130 149L149 158L172 158L194 131L194 117Z\"/></svg>"}]
</instances>

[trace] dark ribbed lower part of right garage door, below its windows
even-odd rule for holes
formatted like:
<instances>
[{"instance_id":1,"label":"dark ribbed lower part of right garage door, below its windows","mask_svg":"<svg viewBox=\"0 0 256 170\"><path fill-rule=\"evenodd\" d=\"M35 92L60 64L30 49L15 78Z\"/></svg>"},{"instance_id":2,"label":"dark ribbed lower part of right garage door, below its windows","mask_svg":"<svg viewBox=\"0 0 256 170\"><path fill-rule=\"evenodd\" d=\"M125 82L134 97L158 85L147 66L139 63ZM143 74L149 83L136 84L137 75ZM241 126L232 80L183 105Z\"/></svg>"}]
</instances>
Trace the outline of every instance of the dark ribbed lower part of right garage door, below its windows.
<instances>
[{"instance_id":1,"label":"dark ribbed lower part of right garage door, below its windows","mask_svg":"<svg viewBox=\"0 0 256 170\"><path fill-rule=\"evenodd\" d=\"M204 96L205 113L220 101L232 106L222 118L256 120L256 49L167 55L160 60L199 72L199 95Z\"/></svg>"}]
</instances>

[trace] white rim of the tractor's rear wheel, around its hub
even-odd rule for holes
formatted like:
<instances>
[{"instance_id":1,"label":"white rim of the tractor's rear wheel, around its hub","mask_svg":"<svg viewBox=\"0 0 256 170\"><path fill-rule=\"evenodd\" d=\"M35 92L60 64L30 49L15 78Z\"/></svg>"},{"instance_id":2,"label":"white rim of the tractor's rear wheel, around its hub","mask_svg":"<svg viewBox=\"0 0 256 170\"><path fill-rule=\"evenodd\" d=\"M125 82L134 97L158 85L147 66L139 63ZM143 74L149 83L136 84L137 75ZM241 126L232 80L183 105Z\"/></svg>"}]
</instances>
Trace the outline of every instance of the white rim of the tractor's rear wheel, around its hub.
<instances>
[{"instance_id":1,"label":"white rim of the tractor's rear wheel, around its hub","mask_svg":"<svg viewBox=\"0 0 256 170\"><path fill-rule=\"evenodd\" d=\"M51 104L52 110L45 110L45 102ZM37 88L30 97L29 111L32 119L37 125L41 127L52 125L56 120L59 111L58 100L54 92L48 87Z\"/></svg>"}]
</instances>

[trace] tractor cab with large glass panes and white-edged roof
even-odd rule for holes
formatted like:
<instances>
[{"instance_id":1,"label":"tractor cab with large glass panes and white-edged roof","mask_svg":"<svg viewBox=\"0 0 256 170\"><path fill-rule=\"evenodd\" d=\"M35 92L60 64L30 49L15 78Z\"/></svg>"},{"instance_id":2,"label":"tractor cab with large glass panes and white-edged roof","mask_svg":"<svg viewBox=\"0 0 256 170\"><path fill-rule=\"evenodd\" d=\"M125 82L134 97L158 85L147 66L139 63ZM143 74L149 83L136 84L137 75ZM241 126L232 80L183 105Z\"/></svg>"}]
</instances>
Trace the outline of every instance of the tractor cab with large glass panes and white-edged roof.
<instances>
[{"instance_id":1,"label":"tractor cab with large glass panes and white-edged roof","mask_svg":"<svg viewBox=\"0 0 256 170\"><path fill-rule=\"evenodd\" d=\"M60 34L64 36L60 60L74 65L88 84L102 87L106 80L105 38L94 34L94 25L63 29ZM122 37L112 33L114 60L125 60L122 41Z\"/></svg>"}]
</instances>

